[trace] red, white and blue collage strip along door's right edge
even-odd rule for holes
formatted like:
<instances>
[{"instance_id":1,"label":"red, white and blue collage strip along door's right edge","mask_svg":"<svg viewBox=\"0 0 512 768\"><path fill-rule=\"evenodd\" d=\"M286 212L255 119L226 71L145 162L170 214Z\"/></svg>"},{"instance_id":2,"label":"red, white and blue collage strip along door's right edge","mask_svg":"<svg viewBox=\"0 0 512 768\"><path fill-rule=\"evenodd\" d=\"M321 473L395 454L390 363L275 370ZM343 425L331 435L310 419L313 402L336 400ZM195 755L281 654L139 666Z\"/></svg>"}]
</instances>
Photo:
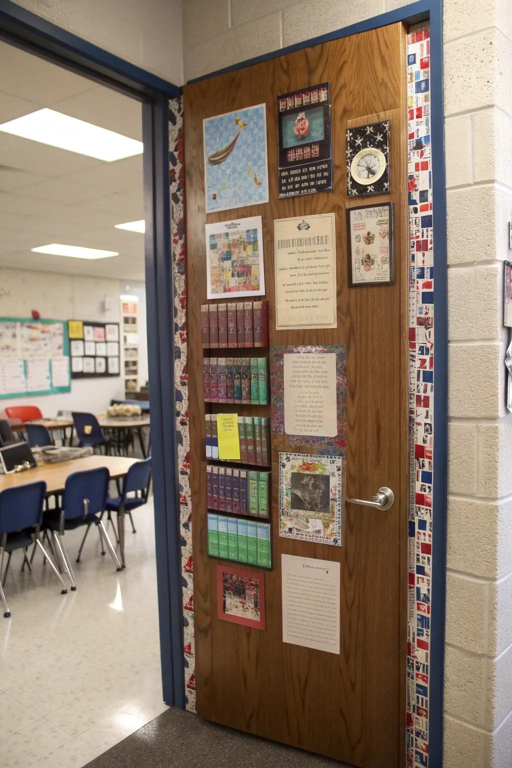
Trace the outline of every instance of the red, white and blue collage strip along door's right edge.
<instances>
[{"instance_id":1,"label":"red, white and blue collage strip along door's right edge","mask_svg":"<svg viewBox=\"0 0 512 768\"><path fill-rule=\"evenodd\" d=\"M409 446L407 765L428 768L434 408L434 252L428 24L407 38Z\"/></svg>"}]
</instances>

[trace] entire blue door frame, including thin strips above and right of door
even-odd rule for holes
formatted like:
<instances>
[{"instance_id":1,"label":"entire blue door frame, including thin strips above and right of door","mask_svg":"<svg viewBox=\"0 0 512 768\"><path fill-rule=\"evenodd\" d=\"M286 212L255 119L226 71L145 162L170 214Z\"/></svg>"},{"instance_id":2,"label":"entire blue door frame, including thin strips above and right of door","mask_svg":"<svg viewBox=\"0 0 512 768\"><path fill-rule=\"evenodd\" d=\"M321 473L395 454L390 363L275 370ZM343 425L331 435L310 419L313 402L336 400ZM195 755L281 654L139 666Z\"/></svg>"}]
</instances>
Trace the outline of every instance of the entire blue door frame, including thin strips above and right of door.
<instances>
[{"instance_id":1,"label":"entire blue door frame, including thin strips above and right of door","mask_svg":"<svg viewBox=\"0 0 512 768\"><path fill-rule=\"evenodd\" d=\"M385 25L430 20L431 143L434 197L434 498L430 663L429 764L442 766L444 615L446 574L446 435L447 435L447 262L444 174L442 0L419 0L364 22L213 72L207 77L247 67L269 58L356 35ZM170 262L167 100L180 88L76 35L0 0L0 36L15 45L110 85L143 101L144 201L148 362L151 439L154 449L155 528L158 609L164 700L184 707L179 504L174 412L173 290ZM203 78L196 78L201 80ZM193 82L193 81L191 81ZM166 472L167 467L167 472ZM405 713L404 713L405 714Z\"/></svg>"}]
</instances>

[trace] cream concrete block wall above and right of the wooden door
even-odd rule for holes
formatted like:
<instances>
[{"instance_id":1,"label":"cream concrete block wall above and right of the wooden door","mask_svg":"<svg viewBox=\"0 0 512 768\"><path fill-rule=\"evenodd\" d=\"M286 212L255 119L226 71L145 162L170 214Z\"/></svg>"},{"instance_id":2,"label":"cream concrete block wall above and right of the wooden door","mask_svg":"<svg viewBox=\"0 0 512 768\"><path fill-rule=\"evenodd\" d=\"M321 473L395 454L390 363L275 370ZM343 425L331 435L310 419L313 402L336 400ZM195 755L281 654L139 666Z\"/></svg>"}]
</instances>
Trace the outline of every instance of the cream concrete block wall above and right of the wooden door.
<instances>
[{"instance_id":1,"label":"cream concrete block wall above and right of the wooden door","mask_svg":"<svg viewBox=\"0 0 512 768\"><path fill-rule=\"evenodd\" d=\"M187 81L406 5L188 0ZM512 419L503 264L512 217L509 0L445 0L448 198L446 768L512 764ZM435 204L435 200L434 200Z\"/></svg>"}]
</instances>

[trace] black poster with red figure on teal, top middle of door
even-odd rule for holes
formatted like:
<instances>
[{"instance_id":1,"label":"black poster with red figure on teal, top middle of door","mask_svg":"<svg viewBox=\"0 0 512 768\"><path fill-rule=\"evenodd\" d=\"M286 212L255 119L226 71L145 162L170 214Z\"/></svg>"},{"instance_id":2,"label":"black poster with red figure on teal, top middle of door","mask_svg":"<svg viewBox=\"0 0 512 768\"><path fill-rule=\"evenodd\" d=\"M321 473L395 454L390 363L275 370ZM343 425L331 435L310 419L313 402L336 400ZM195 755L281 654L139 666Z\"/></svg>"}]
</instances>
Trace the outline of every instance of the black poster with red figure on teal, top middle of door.
<instances>
[{"instance_id":1,"label":"black poster with red figure on teal, top middle of door","mask_svg":"<svg viewBox=\"0 0 512 768\"><path fill-rule=\"evenodd\" d=\"M329 83L277 98L278 197L332 190Z\"/></svg>"}]
</instances>

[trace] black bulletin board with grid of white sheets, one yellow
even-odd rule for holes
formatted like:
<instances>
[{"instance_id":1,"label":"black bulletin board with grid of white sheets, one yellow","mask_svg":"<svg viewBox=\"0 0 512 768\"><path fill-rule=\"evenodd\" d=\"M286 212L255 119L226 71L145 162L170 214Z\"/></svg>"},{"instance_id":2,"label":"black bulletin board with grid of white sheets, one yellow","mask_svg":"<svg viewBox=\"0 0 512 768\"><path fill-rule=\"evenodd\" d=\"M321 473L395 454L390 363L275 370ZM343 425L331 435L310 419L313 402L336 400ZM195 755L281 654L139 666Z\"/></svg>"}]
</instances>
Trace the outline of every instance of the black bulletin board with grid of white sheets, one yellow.
<instances>
[{"instance_id":1,"label":"black bulletin board with grid of white sheets, one yellow","mask_svg":"<svg viewBox=\"0 0 512 768\"><path fill-rule=\"evenodd\" d=\"M71 379L121 376L119 323L68 320Z\"/></svg>"}]
</instances>

